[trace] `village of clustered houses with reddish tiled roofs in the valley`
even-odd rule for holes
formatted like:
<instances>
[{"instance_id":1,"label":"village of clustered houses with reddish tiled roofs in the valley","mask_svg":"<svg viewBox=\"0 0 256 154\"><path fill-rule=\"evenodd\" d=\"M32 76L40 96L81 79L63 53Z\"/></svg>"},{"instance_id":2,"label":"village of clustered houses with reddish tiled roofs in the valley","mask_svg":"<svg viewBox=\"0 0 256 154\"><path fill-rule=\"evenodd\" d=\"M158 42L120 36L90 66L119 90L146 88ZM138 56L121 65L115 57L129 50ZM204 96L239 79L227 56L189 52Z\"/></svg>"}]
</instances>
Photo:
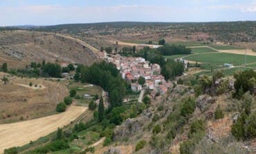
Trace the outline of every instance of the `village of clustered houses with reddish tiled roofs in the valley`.
<instances>
[{"instance_id":1,"label":"village of clustered houses with reddish tiled roofs in the valley","mask_svg":"<svg viewBox=\"0 0 256 154\"><path fill-rule=\"evenodd\" d=\"M145 78L145 85L152 90L152 95L163 95L171 86L161 75L161 66L150 64L142 57L122 57L120 55L111 55L107 60L116 65L120 70L123 79L131 83L131 90L139 92L143 86L138 84L139 77Z\"/></svg>"}]
</instances>

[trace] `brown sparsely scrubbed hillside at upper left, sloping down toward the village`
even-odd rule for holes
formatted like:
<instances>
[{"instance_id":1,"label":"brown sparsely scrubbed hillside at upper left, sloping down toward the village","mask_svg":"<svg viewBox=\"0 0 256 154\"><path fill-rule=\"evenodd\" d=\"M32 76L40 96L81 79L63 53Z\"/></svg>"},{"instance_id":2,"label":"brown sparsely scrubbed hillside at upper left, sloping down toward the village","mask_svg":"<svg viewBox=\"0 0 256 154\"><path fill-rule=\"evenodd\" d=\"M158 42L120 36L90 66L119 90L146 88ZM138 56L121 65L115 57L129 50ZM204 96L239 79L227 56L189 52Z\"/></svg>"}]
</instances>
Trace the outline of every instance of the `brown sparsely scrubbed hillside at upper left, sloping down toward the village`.
<instances>
[{"instance_id":1,"label":"brown sparsely scrubbed hillside at upper left, sloping down toward the village","mask_svg":"<svg viewBox=\"0 0 256 154\"><path fill-rule=\"evenodd\" d=\"M89 44L55 33L26 30L0 32L0 63L10 68L24 67L31 61L93 64L97 50Z\"/></svg>"}]
</instances>

